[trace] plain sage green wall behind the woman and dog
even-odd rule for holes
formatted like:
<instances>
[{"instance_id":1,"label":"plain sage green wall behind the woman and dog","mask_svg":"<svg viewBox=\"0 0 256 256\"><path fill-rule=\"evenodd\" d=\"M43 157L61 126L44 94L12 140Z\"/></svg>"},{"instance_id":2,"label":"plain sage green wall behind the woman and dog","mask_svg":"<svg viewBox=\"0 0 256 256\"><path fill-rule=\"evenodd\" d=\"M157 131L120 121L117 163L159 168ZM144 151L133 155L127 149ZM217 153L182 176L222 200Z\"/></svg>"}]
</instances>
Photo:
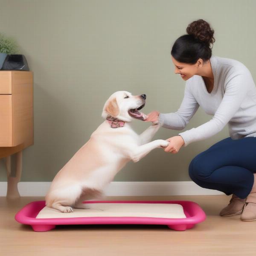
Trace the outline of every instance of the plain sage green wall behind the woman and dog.
<instances>
[{"instance_id":1,"label":"plain sage green wall behind the woman and dog","mask_svg":"<svg viewBox=\"0 0 256 256\"><path fill-rule=\"evenodd\" d=\"M34 72L35 144L23 151L21 181L51 181L104 121L117 90L145 93L144 113L177 111L185 81L170 50L193 20L215 30L214 55L241 61L255 78L255 9L254 0L0 0L0 32L16 38ZM199 108L184 131L211 118ZM149 125L134 120L138 133ZM160 128L154 139L178 132ZM227 126L178 154L157 148L114 180L190 180L192 158L225 137ZM6 181L3 160L0 170Z\"/></svg>"}]
</instances>

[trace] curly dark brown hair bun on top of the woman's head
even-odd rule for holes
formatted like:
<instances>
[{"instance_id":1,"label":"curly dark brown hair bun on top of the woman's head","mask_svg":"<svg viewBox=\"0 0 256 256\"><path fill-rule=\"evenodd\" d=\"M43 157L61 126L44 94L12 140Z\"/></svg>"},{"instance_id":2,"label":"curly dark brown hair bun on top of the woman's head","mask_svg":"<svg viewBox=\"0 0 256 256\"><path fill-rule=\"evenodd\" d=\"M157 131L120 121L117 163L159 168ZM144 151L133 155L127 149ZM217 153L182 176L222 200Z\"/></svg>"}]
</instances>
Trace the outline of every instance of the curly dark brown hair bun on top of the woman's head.
<instances>
[{"instance_id":1,"label":"curly dark brown hair bun on top of the woman's head","mask_svg":"<svg viewBox=\"0 0 256 256\"><path fill-rule=\"evenodd\" d=\"M208 47L210 46L210 44L213 44L215 42L215 38L213 37L214 30L211 29L209 23L205 20L200 19L193 21L186 28L186 32L189 35L193 35L195 39L203 42Z\"/></svg>"}]
</instances>

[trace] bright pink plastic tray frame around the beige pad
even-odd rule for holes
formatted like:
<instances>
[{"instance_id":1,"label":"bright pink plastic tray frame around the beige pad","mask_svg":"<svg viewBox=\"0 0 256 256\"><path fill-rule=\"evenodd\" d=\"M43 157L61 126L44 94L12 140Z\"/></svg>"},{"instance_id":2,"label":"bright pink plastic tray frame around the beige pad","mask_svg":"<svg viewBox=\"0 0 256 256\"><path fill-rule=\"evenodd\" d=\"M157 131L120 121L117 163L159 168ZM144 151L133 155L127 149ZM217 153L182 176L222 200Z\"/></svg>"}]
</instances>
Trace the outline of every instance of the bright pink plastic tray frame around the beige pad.
<instances>
[{"instance_id":1,"label":"bright pink plastic tray frame around the beige pad","mask_svg":"<svg viewBox=\"0 0 256 256\"><path fill-rule=\"evenodd\" d=\"M167 225L172 230L183 231L205 220L201 207L192 201L84 201L83 203L139 203L139 204L180 204L186 218L152 218L152 217L76 217L76 218L36 218L45 207L45 201L34 201L24 206L15 215L15 220L31 225L34 231L49 231L56 225L74 224L156 224Z\"/></svg>"}]
</instances>

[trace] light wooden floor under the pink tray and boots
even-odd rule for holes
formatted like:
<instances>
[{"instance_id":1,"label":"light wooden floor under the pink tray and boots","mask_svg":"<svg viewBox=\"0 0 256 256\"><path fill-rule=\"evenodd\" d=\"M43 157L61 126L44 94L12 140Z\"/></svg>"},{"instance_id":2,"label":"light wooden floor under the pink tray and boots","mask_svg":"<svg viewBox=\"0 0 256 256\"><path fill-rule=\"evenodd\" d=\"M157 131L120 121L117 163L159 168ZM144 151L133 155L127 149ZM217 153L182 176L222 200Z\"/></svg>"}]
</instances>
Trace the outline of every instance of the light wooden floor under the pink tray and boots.
<instances>
[{"instance_id":1,"label":"light wooden floor under the pink tray and boots","mask_svg":"<svg viewBox=\"0 0 256 256\"><path fill-rule=\"evenodd\" d=\"M43 197L7 200L0 197L0 256L255 256L256 221L221 217L231 196L106 197L105 200L188 200L198 203L207 219L190 230L161 225L70 225L34 232L15 221L24 205ZM86 254L90 253L90 254Z\"/></svg>"}]
</instances>

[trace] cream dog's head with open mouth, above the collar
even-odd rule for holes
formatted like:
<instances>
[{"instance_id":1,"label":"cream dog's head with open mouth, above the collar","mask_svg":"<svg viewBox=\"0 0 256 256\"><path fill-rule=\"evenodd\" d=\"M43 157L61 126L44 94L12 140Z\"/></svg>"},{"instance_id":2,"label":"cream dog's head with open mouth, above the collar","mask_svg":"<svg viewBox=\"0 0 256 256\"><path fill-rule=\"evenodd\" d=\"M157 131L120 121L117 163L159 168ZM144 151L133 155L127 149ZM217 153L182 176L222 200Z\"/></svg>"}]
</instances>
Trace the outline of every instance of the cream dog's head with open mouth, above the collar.
<instances>
[{"instance_id":1,"label":"cream dog's head with open mouth, above the collar","mask_svg":"<svg viewBox=\"0 0 256 256\"><path fill-rule=\"evenodd\" d=\"M124 122L131 122L133 118L143 120L145 116L139 110L145 106L146 95L133 96L127 91L113 93L106 101L102 117L114 117Z\"/></svg>"}]
</instances>

